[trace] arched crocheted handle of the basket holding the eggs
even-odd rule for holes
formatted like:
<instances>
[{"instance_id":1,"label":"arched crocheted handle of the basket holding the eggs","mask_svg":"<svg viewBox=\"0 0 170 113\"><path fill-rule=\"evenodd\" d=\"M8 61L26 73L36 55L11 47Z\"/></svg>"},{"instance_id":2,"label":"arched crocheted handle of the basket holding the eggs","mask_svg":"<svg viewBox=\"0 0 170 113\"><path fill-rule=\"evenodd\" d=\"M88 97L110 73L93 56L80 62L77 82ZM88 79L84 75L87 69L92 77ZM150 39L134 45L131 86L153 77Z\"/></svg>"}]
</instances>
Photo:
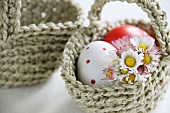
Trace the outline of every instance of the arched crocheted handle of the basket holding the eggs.
<instances>
[{"instance_id":1,"label":"arched crocheted handle of the basket holding the eggs","mask_svg":"<svg viewBox=\"0 0 170 113\"><path fill-rule=\"evenodd\" d=\"M170 54L170 37L167 29L168 22L166 20L166 13L162 11L159 3L155 0L95 0L88 15L90 26L98 24L103 6L111 1L126 1L130 4L136 3L139 7L141 7L141 9L148 14L148 17L151 20L162 54L166 56Z\"/></svg>"}]
</instances>

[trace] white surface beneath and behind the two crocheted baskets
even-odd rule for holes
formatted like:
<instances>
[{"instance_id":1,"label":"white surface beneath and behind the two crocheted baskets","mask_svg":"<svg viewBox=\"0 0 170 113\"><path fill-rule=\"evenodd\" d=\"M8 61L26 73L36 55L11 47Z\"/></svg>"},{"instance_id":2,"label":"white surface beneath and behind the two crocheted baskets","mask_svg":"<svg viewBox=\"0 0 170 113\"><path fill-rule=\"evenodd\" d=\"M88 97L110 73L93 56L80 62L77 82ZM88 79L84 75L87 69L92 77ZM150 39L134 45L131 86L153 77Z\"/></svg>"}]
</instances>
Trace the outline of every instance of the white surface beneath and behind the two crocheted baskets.
<instances>
[{"instance_id":1,"label":"white surface beneath and behind the two crocheted baskets","mask_svg":"<svg viewBox=\"0 0 170 113\"><path fill-rule=\"evenodd\" d=\"M90 9L92 0L76 0L81 3L86 14ZM159 0L161 6L167 11L170 17L170 1ZM112 4L104 8L102 12L103 19L114 20L126 17L147 19L139 8L135 6L122 7L122 4ZM124 4L125 5L125 4ZM170 20L170 19L168 19ZM170 21L169 21L170 22ZM170 88L165 95L164 100L152 113L170 113ZM0 113L83 113L71 97L67 94L64 81L60 73L55 73L48 81L32 85L29 87L20 87L12 89L0 89Z\"/></svg>"}]
</instances>

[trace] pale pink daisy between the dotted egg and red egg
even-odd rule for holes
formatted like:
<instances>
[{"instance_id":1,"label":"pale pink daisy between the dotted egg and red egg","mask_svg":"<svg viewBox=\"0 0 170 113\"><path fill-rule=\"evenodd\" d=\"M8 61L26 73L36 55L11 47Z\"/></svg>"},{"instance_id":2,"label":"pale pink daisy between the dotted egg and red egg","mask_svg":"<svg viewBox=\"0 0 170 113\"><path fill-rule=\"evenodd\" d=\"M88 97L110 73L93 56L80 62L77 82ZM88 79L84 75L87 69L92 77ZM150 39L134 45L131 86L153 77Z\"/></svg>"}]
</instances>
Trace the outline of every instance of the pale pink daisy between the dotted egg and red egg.
<instances>
[{"instance_id":1,"label":"pale pink daisy between the dotted egg and red egg","mask_svg":"<svg viewBox=\"0 0 170 113\"><path fill-rule=\"evenodd\" d=\"M133 48L129 40L130 38L130 36L123 36L116 41L112 41L113 46L117 49L118 55L121 55L122 52Z\"/></svg>"}]
</instances>

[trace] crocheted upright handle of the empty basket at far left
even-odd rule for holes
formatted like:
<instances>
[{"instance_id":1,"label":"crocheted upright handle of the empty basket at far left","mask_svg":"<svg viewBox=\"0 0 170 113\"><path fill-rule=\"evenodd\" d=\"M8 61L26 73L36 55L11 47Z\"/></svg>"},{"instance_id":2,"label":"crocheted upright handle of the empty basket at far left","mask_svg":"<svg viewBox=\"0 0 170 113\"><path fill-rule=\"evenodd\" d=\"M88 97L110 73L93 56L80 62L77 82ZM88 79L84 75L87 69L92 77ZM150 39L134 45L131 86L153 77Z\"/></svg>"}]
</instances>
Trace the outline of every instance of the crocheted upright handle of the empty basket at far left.
<instances>
[{"instance_id":1,"label":"crocheted upright handle of the empty basket at far left","mask_svg":"<svg viewBox=\"0 0 170 113\"><path fill-rule=\"evenodd\" d=\"M21 0L0 0L0 42L20 29Z\"/></svg>"}]
</instances>

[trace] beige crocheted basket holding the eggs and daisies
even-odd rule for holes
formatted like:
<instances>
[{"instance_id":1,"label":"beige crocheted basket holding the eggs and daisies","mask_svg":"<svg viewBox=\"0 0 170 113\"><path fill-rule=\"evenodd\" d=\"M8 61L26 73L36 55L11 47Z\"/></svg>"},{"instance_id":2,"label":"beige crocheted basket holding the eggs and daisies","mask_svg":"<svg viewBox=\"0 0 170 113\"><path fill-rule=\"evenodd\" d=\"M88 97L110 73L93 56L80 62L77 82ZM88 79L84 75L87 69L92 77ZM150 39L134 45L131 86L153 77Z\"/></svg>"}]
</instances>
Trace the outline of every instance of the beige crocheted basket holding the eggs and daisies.
<instances>
[{"instance_id":1,"label":"beige crocheted basket holding the eggs and daisies","mask_svg":"<svg viewBox=\"0 0 170 113\"><path fill-rule=\"evenodd\" d=\"M148 14L151 23L125 20L117 23L101 22L102 7L111 1L136 3ZM116 16L116 15L115 15ZM90 113L148 113L163 99L170 81L170 37L166 14L155 0L96 0L89 12L90 26L82 27L66 44L62 60L62 77L69 94L78 106ZM90 42L102 40L106 33L117 26L138 26L155 38L161 47L160 65L147 81L133 85L119 83L113 86L91 87L76 79L76 62L80 51Z\"/></svg>"}]
</instances>

